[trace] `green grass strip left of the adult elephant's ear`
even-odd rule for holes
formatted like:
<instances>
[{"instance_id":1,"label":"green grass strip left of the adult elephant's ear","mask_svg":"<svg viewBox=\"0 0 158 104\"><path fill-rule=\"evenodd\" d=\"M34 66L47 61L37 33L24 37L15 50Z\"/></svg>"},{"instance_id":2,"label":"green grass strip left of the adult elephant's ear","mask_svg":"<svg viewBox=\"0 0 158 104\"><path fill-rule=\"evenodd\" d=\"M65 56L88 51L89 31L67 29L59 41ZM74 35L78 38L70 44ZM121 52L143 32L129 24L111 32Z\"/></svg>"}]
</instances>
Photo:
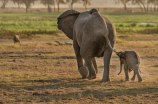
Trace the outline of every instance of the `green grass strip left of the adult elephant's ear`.
<instances>
[{"instance_id":1,"label":"green grass strip left of the adult elephant's ear","mask_svg":"<svg viewBox=\"0 0 158 104\"><path fill-rule=\"evenodd\" d=\"M57 31L59 14L1 14L0 31Z\"/></svg>"}]
</instances>

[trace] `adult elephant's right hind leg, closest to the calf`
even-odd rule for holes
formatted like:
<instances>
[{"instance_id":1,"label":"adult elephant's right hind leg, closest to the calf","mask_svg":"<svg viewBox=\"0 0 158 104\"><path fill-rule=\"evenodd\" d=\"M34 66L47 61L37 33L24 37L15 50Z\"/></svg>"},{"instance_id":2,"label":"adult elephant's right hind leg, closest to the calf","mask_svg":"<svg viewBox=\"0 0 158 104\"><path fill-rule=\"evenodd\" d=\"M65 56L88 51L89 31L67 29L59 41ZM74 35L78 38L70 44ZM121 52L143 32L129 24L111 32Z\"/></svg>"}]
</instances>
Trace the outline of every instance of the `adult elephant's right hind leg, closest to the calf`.
<instances>
[{"instance_id":1,"label":"adult elephant's right hind leg, closest to the calf","mask_svg":"<svg viewBox=\"0 0 158 104\"><path fill-rule=\"evenodd\" d=\"M111 55L112 55L112 51L111 51L110 48L108 48L104 52L104 72L103 72L103 78L102 78L103 82L110 81L110 78L109 78L109 65L110 65Z\"/></svg>"}]
</instances>

